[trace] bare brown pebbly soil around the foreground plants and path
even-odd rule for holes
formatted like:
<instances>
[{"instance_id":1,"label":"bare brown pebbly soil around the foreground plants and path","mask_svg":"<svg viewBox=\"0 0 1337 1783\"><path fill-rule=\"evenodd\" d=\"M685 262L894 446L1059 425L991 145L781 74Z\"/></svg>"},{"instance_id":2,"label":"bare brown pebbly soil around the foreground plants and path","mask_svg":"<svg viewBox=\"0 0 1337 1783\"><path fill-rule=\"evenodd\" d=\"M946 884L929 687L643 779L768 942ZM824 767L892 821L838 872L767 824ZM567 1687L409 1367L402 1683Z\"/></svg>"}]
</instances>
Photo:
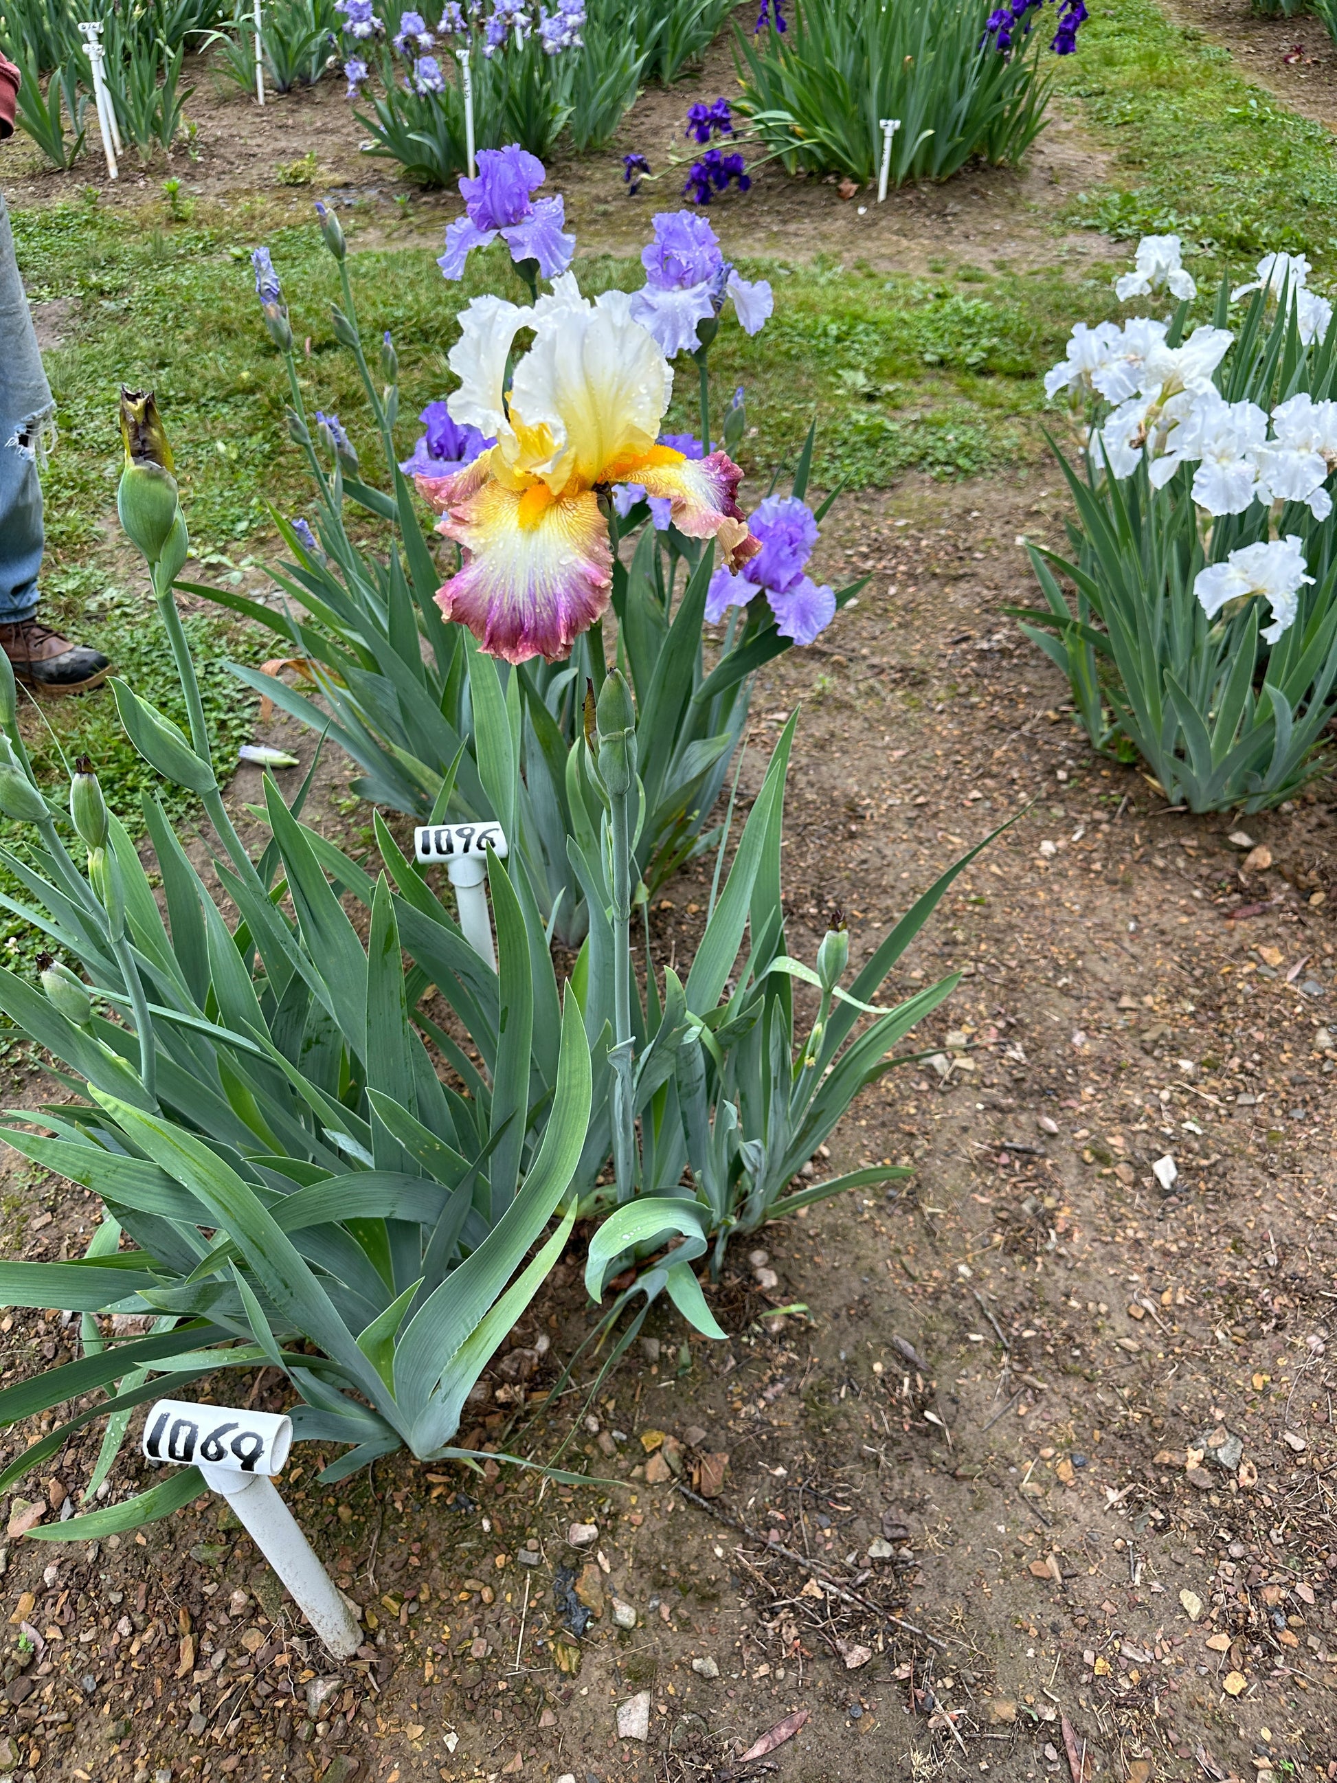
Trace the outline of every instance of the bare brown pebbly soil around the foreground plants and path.
<instances>
[{"instance_id":1,"label":"bare brown pebbly soil around the foreground plants and path","mask_svg":"<svg viewBox=\"0 0 1337 1783\"><path fill-rule=\"evenodd\" d=\"M567 1464L601 1483L396 1457L324 1491L299 1453L285 1496L364 1606L349 1665L210 1500L119 1542L11 1541L5 1774L1332 1774L1330 797L1194 818L1093 760L1004 613L1029 599L1014 538L1057 524L1034 476L841 501L824 572L870 583L754 697L751 790L804 708L800 957L831 904L865 956L1021 813L888 986L963 974L916 1034L939 1061L866 1093L820 1161L915 1177L742 1241L713 1291L727 1343L683 1355L656 1311L658 1353L521 1434L590 1328L572 1246L469 1435L551 1455L574 1432ZM1271 865L1243 865L1241 822ZM656 904L661 957L706 895L688 872ZM12 1253L77 1252L91 1218L11 1170ZM27 1373L71 1335L12 1314L7 1343ZM59 1514L94 1450L25 1496Z\"/></svg>"}]
</instances>

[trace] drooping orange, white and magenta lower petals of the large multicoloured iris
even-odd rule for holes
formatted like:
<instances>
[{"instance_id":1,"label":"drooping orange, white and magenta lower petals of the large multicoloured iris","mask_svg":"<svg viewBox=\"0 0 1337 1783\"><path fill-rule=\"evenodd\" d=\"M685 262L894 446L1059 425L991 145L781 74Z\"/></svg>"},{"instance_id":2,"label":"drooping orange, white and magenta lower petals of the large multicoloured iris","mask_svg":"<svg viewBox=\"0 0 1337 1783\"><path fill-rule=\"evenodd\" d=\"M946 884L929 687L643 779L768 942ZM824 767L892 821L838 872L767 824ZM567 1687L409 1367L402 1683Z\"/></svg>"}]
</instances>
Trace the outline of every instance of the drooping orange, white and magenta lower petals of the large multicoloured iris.
<instances>
[{"instance_id":1,"label":"drooping orange, white and magenta lower petals of the large multicoloured iris","mask_svg":"<svg viewBox=\"0 0 1337 1783\"><path fill-rule=\"evenodd\" d=\"M533 481L513 490L492 476L490 458L485 453L455 476L415 478L442 515L437 531L463 553L437 604L503 661L560 661L608 612L608 522L592 487L572 481L553 496L545 483ZM736 571L761 549L738 506L742 476L722 451L693 460L652 446L608 464L599 487L640 483L647 496L668 497L672 524L688 538L717 538L724 562Z\"/></svg>"}]
</instances>

